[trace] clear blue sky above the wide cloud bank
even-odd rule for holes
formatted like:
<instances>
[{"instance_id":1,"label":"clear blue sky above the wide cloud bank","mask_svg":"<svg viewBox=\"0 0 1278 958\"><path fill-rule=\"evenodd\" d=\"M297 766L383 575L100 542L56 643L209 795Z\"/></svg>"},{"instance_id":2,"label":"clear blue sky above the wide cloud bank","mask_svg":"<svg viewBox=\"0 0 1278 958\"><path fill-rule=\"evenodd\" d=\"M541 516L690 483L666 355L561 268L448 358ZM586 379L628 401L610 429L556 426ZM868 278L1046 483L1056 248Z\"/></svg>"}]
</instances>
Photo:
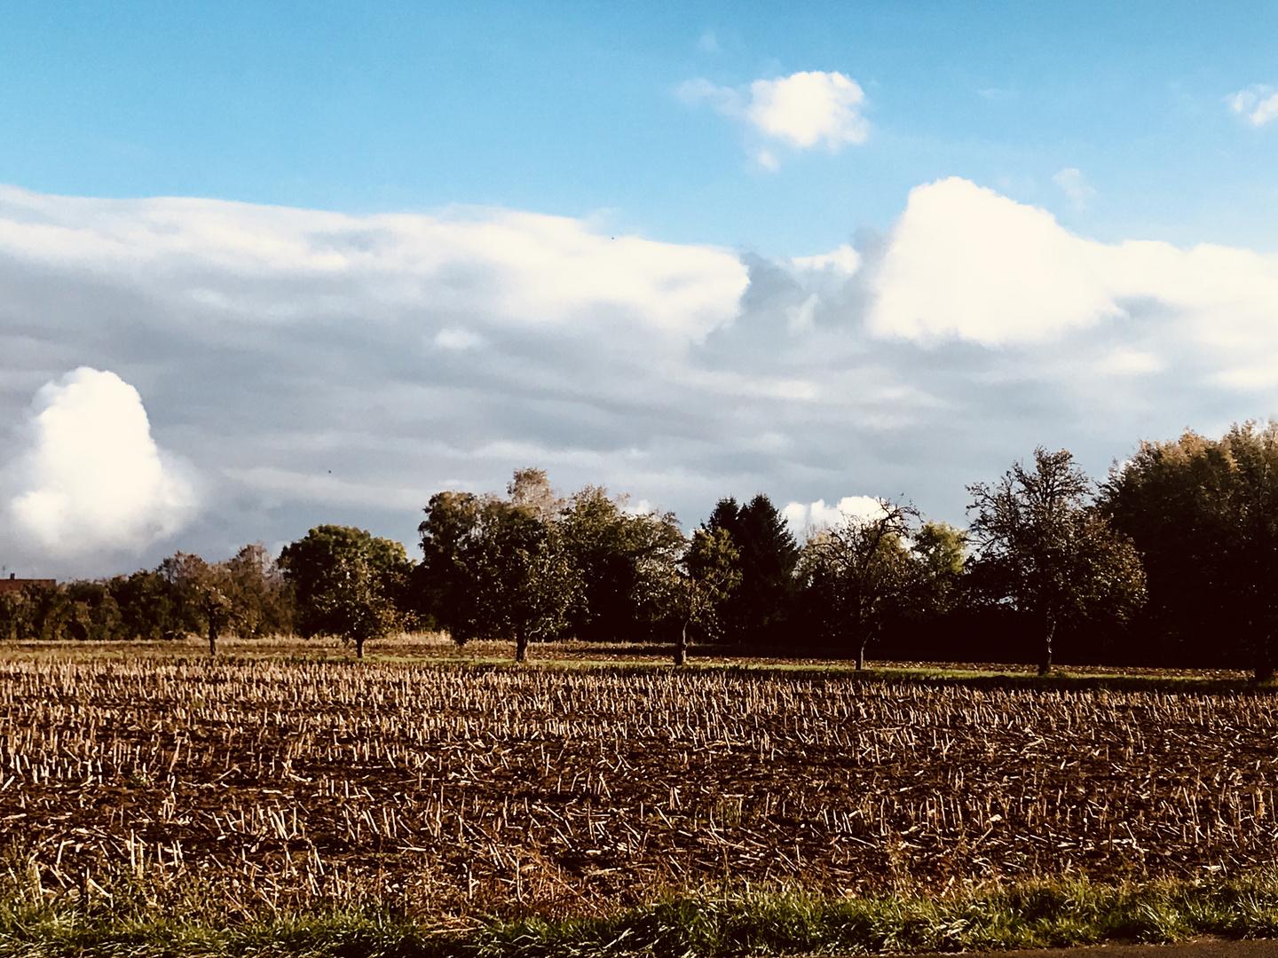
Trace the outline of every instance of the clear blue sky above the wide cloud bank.
<instances>
[{"instance_id":1,"label":"clear blue sky above the wide cloud bank","mask_svg":"<svg viewBox=\"0 0 1278 958\"><path fill-rule=\"evenodd\" d=\"M958 175L1099 239L1273 248L1272 4L6 4L0 180L348 212L496 204L804 254ZM841 72L873 135L776 175L679 102ZM1086 212L1054 186L1080 169Z\"/></svg>"}]
</instances>

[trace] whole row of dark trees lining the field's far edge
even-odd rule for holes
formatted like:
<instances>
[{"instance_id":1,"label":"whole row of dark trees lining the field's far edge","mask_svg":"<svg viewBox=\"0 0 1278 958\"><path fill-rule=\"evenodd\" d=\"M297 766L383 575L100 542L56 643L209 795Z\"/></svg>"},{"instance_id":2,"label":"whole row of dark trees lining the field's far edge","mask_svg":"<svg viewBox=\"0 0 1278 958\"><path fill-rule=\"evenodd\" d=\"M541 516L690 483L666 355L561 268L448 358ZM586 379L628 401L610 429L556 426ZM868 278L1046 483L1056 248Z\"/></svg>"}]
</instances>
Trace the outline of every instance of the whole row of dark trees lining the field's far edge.
<instances>
[{"instance_id":1,"label":"whole row of dark trees lining the field's far edge","mask_svg":"<svg viewBox=\"0 0 1278 958\"><path fill-rule=\"evenodd\" d=\"M1278 423L1145 442L1091 482L1039 448L967 487L969 528L907 501L810 529L760 493L721 499L686 534L601 487L557 496L518 470L505 496L441 492L420 558L349 526L312 529L272 558L248 545L206 563L0 597L0 637L157 639L296 632L366 642L442 628L458 644L694 641L772 654L1246 665L1274 673Z\"/></svg>"}]
</instances>

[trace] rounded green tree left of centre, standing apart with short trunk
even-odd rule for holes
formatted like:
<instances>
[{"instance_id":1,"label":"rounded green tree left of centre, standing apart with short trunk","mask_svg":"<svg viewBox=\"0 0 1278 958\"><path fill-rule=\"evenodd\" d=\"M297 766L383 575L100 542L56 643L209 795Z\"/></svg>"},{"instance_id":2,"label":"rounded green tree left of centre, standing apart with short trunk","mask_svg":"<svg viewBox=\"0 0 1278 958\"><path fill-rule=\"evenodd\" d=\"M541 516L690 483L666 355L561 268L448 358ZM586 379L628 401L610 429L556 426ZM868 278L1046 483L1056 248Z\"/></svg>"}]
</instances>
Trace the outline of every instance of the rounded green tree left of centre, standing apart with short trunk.
<instances>
[{"instance_id":1,"label":"rounded green tree left of centre, standing apart with short trunk","mask_svg":"<svg viewBox=\"0 0 1278 958\"><path fill-rule=\"evenodd\" d=\"M296 628L304 637L334 635L364 644L404 627L395 595L412 565L404 547L363 529L321 525L280 553L295 597Z\"/></svg>"}]
</instances>

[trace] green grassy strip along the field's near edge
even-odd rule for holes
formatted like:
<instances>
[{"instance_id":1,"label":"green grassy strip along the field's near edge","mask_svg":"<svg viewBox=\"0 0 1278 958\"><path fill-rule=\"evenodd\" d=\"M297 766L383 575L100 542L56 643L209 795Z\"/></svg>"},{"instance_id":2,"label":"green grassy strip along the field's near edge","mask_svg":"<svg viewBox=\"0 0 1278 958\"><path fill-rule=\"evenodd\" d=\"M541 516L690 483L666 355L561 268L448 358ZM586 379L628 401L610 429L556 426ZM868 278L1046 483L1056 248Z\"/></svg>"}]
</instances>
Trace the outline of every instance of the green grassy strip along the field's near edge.
<instances>
[{"instance_id":1,"label":"green grassy strip along the field's near edge","mask_svg":"<svg viewBox=\"0 0 1278 958\"><path fill-rule=\"evenodd\" d=\"M777 892L703 894L668 898L603 918L493 918L463 931L376 907L219 921L212 916L160 917L157 904L148 904L146 895L134 902L123 909L86 913L74 901L10 898L0 903L0 955L675 958L1278 936L1278 870L1208 883L1113 886L1036 881L941 901L832 899Z\"/></svg>"}]
</instances>

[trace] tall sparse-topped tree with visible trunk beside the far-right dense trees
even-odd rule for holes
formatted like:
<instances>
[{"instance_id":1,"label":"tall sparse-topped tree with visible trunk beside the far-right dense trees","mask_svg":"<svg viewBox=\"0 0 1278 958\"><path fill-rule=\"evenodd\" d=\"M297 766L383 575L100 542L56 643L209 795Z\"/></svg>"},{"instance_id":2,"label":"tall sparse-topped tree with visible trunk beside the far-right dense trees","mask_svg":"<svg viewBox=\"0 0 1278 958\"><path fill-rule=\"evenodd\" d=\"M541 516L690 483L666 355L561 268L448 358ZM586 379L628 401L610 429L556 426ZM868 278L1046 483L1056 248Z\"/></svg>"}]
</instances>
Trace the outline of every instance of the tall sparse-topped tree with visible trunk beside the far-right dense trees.
<instances>
[{"instance_id":1,"label":"tall sparse-topped tree with visible trunk beside the far-right dense trees","mask_svg":"<svg viewBox=\"0 0 1278 958\"><path fill-rule=\"evenodd\" d=\"M974 585L1013 605L1038 632L1039 672L1052 671L1057 628L1085 620L1125 622L1145 600L1132 540L1088 503L1090 482L1066 450L1034 451L997 483L970 485L976 512Z\"/></svg>"}]
</instances>

